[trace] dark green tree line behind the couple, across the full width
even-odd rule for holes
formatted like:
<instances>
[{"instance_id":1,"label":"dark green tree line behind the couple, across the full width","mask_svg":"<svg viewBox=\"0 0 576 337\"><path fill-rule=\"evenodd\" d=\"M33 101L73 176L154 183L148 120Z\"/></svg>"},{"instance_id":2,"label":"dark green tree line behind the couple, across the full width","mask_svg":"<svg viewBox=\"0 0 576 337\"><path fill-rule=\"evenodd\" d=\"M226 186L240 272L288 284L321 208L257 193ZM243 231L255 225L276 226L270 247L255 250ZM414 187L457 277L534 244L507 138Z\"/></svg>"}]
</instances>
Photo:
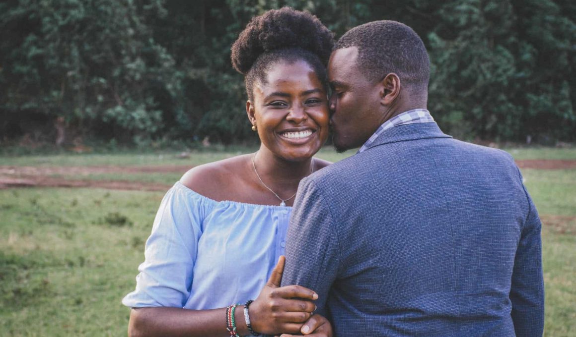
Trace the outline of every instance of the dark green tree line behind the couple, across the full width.
<instances>
[{"instance_id":1,"label":"dark green tree line behind the couple, across the full width","mask_svg":"<svg viewBox=\"0 0 576 337\"><path fill-rule=\"evenodd\" d=\"M285 5L336 37L373 20L414 28L429 109L460 139L576 138L573 0L4 0L0 140L255 140L230 45Z\"/></svg>"}]
</instances>

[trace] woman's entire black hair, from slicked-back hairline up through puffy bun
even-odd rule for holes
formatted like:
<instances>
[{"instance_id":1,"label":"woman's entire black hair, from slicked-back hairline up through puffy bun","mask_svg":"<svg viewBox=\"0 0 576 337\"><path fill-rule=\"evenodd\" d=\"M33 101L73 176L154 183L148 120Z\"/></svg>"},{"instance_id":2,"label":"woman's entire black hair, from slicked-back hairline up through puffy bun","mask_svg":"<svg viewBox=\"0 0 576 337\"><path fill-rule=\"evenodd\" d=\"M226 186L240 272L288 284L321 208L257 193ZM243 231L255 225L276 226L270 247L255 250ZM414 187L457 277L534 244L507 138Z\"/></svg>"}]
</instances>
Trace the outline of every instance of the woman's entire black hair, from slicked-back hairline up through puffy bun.
<instances>
[{"instance_id":1,"label":"woman's entire black hair, from slicked-back hairline up through puffy bun","mask_svg":"<svg viewBox=\"0 0 576 337\"><path fill-rule=\"evenodd\" d=\"M283 7L252 18L232 45L232 66L245 76L253 101L255 81L264 83L268 69L280 60L304 60L326 85L332 48L334 34L316 16Z\"/></svg>"}]
</instances>

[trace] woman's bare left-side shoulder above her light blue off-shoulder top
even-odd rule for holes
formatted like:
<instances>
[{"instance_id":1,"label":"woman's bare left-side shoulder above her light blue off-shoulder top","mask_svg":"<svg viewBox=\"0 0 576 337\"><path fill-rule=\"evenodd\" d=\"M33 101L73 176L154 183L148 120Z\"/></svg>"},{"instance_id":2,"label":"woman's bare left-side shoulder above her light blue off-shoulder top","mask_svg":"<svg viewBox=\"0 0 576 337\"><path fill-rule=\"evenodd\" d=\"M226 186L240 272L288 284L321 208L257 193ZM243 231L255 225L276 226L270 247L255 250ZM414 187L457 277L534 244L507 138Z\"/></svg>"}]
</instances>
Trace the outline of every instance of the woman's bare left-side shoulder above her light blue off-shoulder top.
<instances>
[{"instance_id":1,"label":"woman's bare left-side shoulder above her light blue off-shoulder top","mask_svg":"<svg viewBox=\"0 0 576 337\"><path fill-rule=\"evenodd\" d=\"M242 179L246 157L247 155L240 155L192 167L184 173L180 182L204 197L225 200L228 198L225 191L232 187L234 181Z\"/></svg>"}]
</instances>

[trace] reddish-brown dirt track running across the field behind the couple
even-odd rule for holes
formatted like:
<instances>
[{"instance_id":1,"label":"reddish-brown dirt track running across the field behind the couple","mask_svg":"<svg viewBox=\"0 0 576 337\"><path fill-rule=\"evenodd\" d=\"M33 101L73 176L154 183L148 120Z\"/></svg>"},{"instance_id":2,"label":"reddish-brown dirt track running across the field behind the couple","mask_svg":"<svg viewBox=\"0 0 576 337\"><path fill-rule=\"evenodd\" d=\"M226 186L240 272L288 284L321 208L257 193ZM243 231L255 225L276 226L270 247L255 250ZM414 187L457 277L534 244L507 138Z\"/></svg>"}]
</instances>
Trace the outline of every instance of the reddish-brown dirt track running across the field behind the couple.
<instances>
[{"instance_id":1,"label":"reddish-brown dirt track running across the field behind the couple","mask_svg":"<svg viewBox=\"0 0 576 337\"><path fill-rule=\"evenodd\" d=\"M576 160L517 160L520 168L538 170L576 169ZM95 187L118 190L165 191L170 185L153 182L96 180L58 177L111 173L182 173L190 166L0 166L0 189L10 187Z\"/></svg>"}]
</instances>

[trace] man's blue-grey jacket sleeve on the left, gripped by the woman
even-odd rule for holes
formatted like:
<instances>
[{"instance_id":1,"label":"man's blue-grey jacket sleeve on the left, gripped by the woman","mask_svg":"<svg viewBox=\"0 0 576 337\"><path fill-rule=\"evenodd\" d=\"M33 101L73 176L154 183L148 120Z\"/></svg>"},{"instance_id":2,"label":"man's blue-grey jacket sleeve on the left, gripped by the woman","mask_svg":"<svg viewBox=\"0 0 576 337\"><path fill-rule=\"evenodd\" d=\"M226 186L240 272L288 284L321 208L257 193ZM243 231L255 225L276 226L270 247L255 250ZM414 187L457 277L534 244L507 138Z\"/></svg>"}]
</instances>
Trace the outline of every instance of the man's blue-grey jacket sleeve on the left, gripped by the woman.
<instances>
[{"instance_id":1,"label":"man's blue-grey jacket sleeve on the left, gripped by the woman","mask_svg":"<svg viewBox=\"0 0 576 337\"><path fill-rule=\"evenodd\" d=\"M318 312L325 315L328 291L338 274L340 246L331 210L316 184L305 179L286 235L286 266L282 285L301 285L319 295Z\"/></svg>"}]
</instances>

